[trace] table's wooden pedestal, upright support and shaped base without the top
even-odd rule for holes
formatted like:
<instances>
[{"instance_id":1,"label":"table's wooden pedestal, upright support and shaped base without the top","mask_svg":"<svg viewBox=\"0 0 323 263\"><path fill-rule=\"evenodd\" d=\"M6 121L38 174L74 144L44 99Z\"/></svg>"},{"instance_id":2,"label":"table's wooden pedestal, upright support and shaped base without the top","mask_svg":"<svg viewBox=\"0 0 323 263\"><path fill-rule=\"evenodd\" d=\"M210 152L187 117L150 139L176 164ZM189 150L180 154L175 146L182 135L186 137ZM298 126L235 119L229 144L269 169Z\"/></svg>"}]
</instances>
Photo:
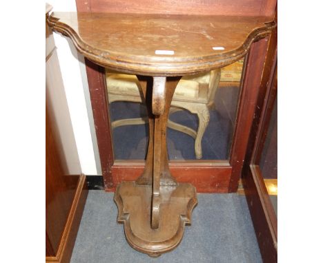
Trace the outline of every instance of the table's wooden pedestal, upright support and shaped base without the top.
<instances>
[{"instance_id":1,"label":"table's wooden pedestal, upright support and shaped base without the top","mask_svg":"<svg viewBox=\"0 0 323 263\"><path fill-rule=\"evenodd\" d=\"M119 209L117 220L124 223L130 246L157 257L174 249L182 240L197 196L195 187L177 183L168 167L167 120L180 77L153 77L153 83L151 77L137 77L149 118L146 166L136 181L118 185L115 202Z\"/></svg>"}]
</instances>

